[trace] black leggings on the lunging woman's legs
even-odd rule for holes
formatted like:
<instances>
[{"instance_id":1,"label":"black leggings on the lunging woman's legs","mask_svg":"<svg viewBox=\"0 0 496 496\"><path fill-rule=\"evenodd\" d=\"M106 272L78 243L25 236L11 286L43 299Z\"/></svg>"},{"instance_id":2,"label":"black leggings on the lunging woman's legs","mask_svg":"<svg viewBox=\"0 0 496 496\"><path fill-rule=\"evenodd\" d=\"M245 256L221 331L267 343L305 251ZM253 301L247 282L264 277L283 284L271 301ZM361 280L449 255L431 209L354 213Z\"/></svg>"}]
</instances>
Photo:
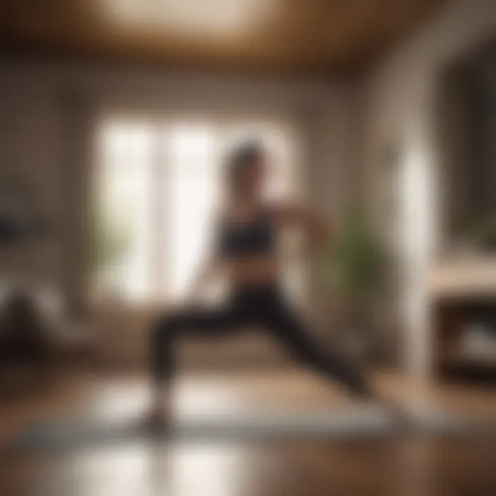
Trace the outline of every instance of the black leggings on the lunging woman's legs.
<instances>
[{"instance_id":1,"label":"black leggings on the lunging woman's legs","mask_svg":"<svg viewBox=\"0 0 496 496\"><path fill-rule=\"evenodd\" d=\"M335 378L357 395L368 395L363 375L342 356L324 351L309 338L296 313L276 286L238 289L231 300L217 309L178 311L159 318L152 329L152 374L163 384L174 373L174 346L186 335L225 335L239 327L259 325L285 345L294 358L328 378Z\"/></svg>"}]
</instances>

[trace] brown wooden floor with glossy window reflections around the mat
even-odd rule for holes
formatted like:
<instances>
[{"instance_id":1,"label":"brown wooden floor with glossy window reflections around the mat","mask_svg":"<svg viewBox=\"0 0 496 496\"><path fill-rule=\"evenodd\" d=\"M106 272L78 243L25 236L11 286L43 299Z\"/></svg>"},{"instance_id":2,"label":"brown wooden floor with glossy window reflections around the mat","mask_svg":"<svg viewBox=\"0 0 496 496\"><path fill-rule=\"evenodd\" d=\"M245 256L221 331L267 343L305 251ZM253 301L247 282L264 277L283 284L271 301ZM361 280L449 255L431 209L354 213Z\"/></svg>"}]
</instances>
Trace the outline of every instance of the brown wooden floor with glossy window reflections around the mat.
<instances>
[{"instance_id":1,"label":"brown wooden floor with glossy window reflections around the mat","mask_svg":"<svg viewBox=\"0 0 496 496\"><path fill-rule=\"evenodd\" d=\"M413 386L380 375L381 389L404 401L436 404L477 418L496 413L496 393L473 386ZM140 377L59 374L45 391L3 403L0 441L33 420L139 417ZM337 407L351 401L306 371L185 375L176 415L194 409ZM383 440L185 442L94 446L68 453L0 459L0 495L80 496L437 496L496 495L496 440L402 437Z\"/></svg>"}]
</instances>

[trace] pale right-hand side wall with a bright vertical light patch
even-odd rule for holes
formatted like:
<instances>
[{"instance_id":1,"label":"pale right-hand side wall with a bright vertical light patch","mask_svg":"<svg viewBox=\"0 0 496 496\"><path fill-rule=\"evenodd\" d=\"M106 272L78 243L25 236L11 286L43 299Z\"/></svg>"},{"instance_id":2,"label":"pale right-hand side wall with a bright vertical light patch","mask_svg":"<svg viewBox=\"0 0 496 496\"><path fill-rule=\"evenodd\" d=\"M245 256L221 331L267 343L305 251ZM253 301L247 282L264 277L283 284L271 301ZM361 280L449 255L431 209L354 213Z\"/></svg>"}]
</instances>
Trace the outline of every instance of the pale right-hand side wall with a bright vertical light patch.
<instances>
[{"instance_id":1,"label":"pale right-hand side wall with a bright vertical light patch","mask_svg":"<svg viewBox=\"0 0 496 496\"><path fill-rule=\"evenodd\" d=\"M384 147L402 149L400 212L406 324L404 365L415 377L430 371L426 270L440 242L439 147L435 134L437 76L466 52L496 34L494 0L454 0L411 39L375 66L364 81L362 190L379 203Z\"/></svg>"}]
</instances>

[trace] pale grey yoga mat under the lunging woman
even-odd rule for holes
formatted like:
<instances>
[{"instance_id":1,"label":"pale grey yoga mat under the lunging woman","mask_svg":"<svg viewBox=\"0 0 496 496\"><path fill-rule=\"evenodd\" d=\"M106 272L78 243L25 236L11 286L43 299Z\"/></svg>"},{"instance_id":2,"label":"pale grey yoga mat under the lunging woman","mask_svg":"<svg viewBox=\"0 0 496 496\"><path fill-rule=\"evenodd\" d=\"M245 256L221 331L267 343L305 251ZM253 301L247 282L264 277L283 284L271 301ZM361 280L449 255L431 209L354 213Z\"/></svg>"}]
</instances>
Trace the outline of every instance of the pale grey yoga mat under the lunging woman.
<instances>
[{"instance_id":1,"label":"pale grey yoga mat under the lunging woman","mask_svg":"<svg viewBox=\"0 0 496 496\"><path fill-rule=\"evenodd\" d=\"M426 434L473 433L479 427L440 411L418 413L414 431ZM168 429L150 428L143 420L52 420L28 426L17 437L21 450L71 449L119 442L161 440L229 440L318 437L351 439L387 437L404 431L391 413L380 408L332 411L245 411L180 415Z\"/></svg>"}]
</instances>

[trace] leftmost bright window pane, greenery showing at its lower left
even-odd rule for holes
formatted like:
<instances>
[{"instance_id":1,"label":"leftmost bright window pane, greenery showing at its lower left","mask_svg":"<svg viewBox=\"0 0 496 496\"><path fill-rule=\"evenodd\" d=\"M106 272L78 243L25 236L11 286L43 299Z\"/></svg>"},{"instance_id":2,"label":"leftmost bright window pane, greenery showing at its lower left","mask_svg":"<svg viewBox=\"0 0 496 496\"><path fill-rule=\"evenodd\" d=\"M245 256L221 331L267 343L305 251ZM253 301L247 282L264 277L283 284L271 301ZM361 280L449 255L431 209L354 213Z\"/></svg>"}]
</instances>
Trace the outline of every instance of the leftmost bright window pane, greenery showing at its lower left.
<instances>
[{"instance_id":1,"label":"leftmost bright window pane, greenery showing at its lower left","mask_svg":"<svg viewBox=\"0 0 496 496\"><path fill-rule=\"evenodd\" d=\"M99 292L132 300L149 292L152 137L146 124L126 122L107 123L101 134L96 283Z\"/></svg>"}]
</instances>

